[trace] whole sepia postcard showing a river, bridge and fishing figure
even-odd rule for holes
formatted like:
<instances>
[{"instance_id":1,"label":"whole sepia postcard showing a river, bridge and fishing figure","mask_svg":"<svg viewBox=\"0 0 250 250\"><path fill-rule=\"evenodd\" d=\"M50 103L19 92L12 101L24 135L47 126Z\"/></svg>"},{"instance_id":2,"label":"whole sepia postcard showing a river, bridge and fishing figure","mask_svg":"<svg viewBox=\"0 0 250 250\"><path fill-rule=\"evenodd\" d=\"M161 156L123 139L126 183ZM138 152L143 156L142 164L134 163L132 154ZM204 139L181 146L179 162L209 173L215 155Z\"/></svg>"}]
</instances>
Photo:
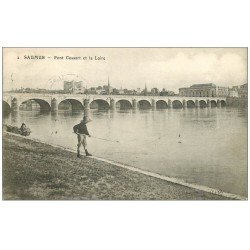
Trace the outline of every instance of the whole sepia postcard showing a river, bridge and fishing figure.
<instances>
[{"instance_id":1,"label":"whole sepia postcard showing a river, bridge and fishing figure","mask_svg":"<svg viewBox=\"0 0 250 250\"><path fill-rule=\"evenodd\" d=\"M247 200L247 48L3 48L4 200Z\"/></svg>"}]
</instances>

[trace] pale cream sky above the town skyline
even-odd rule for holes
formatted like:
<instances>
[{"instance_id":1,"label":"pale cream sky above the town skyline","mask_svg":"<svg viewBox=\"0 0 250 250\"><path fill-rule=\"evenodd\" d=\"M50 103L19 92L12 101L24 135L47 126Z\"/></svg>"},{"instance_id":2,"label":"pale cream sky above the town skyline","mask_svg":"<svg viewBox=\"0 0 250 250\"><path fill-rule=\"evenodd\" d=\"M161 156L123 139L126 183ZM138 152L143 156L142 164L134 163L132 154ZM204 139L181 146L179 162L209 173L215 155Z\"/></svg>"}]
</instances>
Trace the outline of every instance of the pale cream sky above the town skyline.
<instances>
[{"instance_id":1,"label":"pale cream sky above the town skyline","mask_svg":"<svg viewBox=\"0 0 250 250\"><path fill-rule=\"evenodd\" d=\"M35 55L45 59L25 59ZM4 91L21 87L63 89L65 80L82 80L87 87L97 87L107 84L108 78L115 88L137 89L146 84L148 89L176 93L197 83L241 85L247 83L247 48L3 49Z\"/></svg>"}]
</instances>

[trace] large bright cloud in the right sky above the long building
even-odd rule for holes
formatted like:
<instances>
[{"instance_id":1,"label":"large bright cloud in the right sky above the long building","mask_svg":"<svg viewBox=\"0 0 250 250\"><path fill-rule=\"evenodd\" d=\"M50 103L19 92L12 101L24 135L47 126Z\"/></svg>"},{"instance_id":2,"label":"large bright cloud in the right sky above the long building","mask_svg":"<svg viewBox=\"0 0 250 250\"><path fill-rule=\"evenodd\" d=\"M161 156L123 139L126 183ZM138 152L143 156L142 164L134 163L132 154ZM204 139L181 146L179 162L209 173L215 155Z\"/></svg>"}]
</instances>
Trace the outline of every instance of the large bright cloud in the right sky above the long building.
<instances>
[{"instance_id":1,"label":"large bright cloud in the right sky above the long building","mask_svg":"<svg viewBox=\"0 0 250 250\"><path fill-rule=\"evenodd\" d=\"M234 53L218 56L215 53L198 53L189 56L178 53L168 61L146 62L141 67L150 82L164 84L177 90L194 83L213 82L220 86L247 82L246 61Z\"/></svg>"}]
</instances>

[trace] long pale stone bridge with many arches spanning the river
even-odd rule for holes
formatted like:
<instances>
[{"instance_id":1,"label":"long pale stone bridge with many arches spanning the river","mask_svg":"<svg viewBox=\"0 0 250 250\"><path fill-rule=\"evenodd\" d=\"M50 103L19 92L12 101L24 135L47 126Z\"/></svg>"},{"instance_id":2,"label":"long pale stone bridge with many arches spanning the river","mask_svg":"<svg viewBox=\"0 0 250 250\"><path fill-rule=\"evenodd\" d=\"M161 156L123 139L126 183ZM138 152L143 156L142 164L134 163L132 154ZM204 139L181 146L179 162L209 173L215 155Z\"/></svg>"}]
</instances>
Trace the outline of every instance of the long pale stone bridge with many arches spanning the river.
<instances>
[{"instance_id":1,"label":"long pale stone bridge with many arches spanning the river","mask_svg":"<svg viewBox=\"0 0 250 250\"><path fill-rule=\"evenodd\" d=\"M135 96L135 95L85 95L3 93L4 111L18 111L20 106L35 101L41 110L57 111L64 104L72 110L99 109L167 109L205 108L226 106L225 97Z\"/></svg>"}]
</instances>

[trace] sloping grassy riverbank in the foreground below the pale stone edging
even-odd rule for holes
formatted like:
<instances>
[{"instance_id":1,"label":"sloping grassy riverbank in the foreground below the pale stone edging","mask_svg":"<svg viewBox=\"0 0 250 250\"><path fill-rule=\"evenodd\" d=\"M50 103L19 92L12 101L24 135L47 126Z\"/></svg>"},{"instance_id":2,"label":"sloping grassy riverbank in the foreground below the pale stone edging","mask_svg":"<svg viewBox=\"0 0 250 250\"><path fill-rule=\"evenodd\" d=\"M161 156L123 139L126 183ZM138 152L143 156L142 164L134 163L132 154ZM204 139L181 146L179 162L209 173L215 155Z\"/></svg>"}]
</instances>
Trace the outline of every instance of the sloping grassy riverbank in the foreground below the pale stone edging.
<instances>
[{"instance_id":1,"label":"sloping grassy riverbank in the foreground below the pale stone edging","mask_svg":"<svg viewBox=\"0 0 250 250\"><path fill-rule=\"evenodd\" d=\"M3 134L4 200L225 200L25 137Z\"/></svg>"}]
</instances>

